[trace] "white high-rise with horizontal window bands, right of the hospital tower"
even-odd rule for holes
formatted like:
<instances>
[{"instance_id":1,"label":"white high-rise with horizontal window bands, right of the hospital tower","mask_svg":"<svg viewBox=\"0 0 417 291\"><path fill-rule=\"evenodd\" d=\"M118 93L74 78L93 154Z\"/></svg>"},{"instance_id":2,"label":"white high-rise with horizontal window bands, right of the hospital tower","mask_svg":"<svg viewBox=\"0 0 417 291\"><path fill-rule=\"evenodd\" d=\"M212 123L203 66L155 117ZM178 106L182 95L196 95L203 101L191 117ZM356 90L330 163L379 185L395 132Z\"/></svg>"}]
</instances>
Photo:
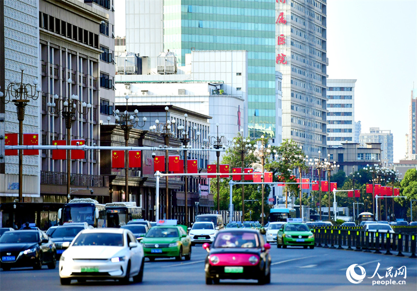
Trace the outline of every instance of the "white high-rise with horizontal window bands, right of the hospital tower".
<instances>
[{"instance_id":1,"label":"white high-rise with horizontal window bands, right of the hospital tower","mask_svg":"<svg viewBox=\"0 0 417 291\"><path fill-rule=\"evenodd\" d=\"M327 79L327 146L340 146L344 141L354 141L355 82Z\"/></svg>"}]
</instances>

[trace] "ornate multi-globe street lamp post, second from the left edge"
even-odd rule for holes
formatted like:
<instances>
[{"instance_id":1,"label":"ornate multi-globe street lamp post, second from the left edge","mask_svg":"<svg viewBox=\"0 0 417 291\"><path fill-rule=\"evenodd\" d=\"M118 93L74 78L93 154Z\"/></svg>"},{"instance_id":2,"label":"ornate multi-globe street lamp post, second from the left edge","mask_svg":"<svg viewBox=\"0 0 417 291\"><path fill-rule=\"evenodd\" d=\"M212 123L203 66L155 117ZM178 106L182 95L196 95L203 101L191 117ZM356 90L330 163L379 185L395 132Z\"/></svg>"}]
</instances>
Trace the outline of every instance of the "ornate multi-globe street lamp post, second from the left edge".
<instances>
[{"instance_id":1,"label":"ornate multi-globe street lamp post, second from the left edge","mask_svg":"<svg viewBox=\"0 0 417 291\"><path fill-rule=\"evenodd\" d=\"M71 86L72 80L69 78L67 81L68 86ZM81 102L77 95L70 95L70 88L68 88L68 97L53 95L52 102L48 102L48 111L51 114L61 115L65 118L66 127L66 144L71 145L71 125L72 118L77 114L87 115L91 104ZM56 103L55 103L56 102ZM71 150L66 151L66 193L70 196L70 185L71 185ZM67 202L69 202L67 197Z\"/></svg>"}]
</instances>

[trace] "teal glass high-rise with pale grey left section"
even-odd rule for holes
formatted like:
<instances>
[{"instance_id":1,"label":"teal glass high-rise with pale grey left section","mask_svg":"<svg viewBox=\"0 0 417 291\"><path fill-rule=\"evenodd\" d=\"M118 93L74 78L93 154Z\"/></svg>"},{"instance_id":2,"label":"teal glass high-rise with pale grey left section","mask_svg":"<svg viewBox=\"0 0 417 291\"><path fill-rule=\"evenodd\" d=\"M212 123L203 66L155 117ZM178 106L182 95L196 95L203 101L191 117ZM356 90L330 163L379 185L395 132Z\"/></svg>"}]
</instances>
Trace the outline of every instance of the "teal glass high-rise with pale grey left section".
<instances>
[{"instance_id":1,"label":"teal glass high-rise with pale grey left section","mask_svg":"<svg viewBox=\"0 0 417 291\"><path fill-rule=\"evenodd\" d=\"M151 57L192 50L248 51L248 133L276 137L275 0L127 0L127 51ZM225 60L226 61L226 60ZM209 62L207 65L210 66ZM222 71L220 66L218 71Z\"/></svg>"}]
</instances>

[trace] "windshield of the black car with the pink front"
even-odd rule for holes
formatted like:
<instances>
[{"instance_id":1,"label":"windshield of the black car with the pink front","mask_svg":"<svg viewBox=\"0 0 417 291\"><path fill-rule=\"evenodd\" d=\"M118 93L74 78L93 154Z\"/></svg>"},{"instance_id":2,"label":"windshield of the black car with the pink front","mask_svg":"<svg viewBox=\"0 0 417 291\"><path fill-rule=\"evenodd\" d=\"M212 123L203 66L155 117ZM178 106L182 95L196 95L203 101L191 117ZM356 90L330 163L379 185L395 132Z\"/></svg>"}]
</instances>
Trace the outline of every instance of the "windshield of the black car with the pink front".
<instances>
[{"instance_id":1,"label":"windshield of the black car with the pink front","mask_svg":"<svg viewBox=\"0 0 417 291\"><path fill-rule=\"evenodd\" d=\"M214 247L258 247L258 236L254 232L221 232L216 236Z\"/></svg>"}]
</instances>

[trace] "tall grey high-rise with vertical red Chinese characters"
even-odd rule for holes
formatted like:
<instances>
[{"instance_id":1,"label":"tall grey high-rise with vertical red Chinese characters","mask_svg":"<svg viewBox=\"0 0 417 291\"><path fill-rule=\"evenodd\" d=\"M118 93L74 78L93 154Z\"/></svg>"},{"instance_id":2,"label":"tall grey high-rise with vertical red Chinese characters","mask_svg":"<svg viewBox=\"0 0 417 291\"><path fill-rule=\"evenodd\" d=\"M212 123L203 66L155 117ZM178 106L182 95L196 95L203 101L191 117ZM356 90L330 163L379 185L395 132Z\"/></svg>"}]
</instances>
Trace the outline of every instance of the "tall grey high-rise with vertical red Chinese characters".
<instances>
[{"instance_id":1,"label":"tall grey high-rise with vertical red Chinese characters","mask_svg":"<svg viewBox=\"0 0 417 291\"><path fill-rule=\"evenodd\" d=\"M276 1L276 71L282 80L282 137L312 157L326 153L326 1Z\"/></svg>"}]
</instances>

